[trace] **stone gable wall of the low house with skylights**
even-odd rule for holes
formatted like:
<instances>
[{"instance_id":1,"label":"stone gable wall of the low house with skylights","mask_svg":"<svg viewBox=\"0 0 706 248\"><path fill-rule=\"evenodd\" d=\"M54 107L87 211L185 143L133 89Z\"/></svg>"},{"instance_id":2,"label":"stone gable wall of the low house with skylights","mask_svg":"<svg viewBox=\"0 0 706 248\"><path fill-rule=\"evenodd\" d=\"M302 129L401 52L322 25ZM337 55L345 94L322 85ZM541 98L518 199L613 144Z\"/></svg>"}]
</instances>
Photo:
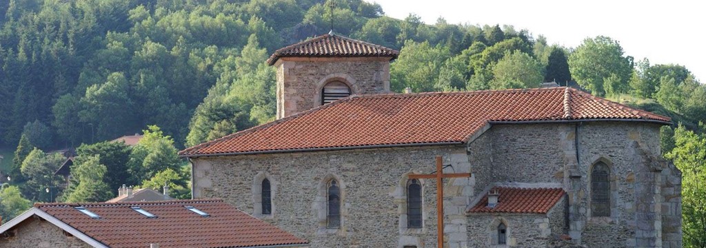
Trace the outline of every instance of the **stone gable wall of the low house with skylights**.
<instances>
[{"instance_id":1,"label":"stone gable wall of the low house with skylights","mask_svg":"<svg viewBox=\"0 0 706 248\"><path fill-rule=\"evenodd\" d=\"M0 237L0 247L6 248L84 248L91 247L64 230L41 218L28 218L16 226L14 237Z\"/></svg>"}]
</instances>

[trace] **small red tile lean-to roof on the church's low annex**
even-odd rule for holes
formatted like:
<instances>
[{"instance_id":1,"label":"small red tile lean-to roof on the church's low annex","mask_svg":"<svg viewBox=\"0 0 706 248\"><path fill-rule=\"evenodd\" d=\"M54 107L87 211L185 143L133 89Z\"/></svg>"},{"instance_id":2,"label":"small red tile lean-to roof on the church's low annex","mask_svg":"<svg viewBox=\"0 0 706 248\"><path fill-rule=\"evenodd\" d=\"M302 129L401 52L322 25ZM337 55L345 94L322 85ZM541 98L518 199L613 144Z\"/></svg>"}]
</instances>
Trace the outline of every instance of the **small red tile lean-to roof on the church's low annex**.
<instances>
[{"instance_id":1,"label":"small red tile lean-to roof on the church's low annex","mask_svg":"<svg viewBox=\"0 0 706 248\"><path fill-rule=\"evenodd\" d=\"M468 213L547 213L564 196L561 188L493 187L492 190L500 192L495 207L488 207L486 192Z\"/></svg>"}]
</instances>

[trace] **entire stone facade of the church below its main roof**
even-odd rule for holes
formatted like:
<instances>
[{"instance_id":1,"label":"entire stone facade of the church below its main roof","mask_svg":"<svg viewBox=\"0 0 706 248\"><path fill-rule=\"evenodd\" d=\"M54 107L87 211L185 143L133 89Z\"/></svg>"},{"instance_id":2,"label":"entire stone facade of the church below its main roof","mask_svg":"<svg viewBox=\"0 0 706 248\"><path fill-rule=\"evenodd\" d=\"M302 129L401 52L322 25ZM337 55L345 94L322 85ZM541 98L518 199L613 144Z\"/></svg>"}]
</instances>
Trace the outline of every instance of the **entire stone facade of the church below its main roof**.
<instances>
[{"instance_id":1,"label":"entire stone facade of the church below its main roof","mask_svg":"<svg viewBox=\"0 0 706 248\"><path fill-rule=\"evenodd\" d=\"M577 146L578 145L578 146ZM577 149L578 147L578 149ZM397 147L222 156L193 159L193 196L220 197L255 213L255 178L276 184L275 213L266 218L312 247L433 247L436 185L422 180L423 228L406 228L406 175L431 173L441 155L472 178L445 181L445 242L486 247L488 228L508 221L517 247L546 246L569 235L587 247L681 247L681 173L659 159L659 125L584 122L489 125L467 147ZM609 217L590 213L590 170L609 165ZM342 227L325 228L327 178L340 181ZM566 197L546 215L467 215L496 183L559 185ZM479 233L481 232L481 233ZM513 246L513 245L510 245Z\"/></svg>"}]
</instances>

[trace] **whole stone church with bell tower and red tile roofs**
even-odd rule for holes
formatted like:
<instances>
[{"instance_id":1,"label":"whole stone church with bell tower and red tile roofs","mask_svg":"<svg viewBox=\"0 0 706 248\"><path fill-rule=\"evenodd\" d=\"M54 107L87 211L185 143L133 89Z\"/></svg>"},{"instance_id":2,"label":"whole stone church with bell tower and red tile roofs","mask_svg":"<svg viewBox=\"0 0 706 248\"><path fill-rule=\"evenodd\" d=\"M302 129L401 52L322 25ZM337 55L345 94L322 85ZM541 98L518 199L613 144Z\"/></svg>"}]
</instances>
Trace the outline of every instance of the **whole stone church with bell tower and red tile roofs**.
<instances>
[{"instance_id":1,"label":"whole stone church with bell tower and red tile roofs","mask_svg":"<svg viewBox=\"0 0 706 248\"><path fill-rule=\"evenodd\" d=\"M390 92L398 51L340 35L279 49L277 120L180 151L220 197L311 247L681 247L671 120L568 87ZM436 181L443 181L437 226Z\"/></svg>"}]
</instances>

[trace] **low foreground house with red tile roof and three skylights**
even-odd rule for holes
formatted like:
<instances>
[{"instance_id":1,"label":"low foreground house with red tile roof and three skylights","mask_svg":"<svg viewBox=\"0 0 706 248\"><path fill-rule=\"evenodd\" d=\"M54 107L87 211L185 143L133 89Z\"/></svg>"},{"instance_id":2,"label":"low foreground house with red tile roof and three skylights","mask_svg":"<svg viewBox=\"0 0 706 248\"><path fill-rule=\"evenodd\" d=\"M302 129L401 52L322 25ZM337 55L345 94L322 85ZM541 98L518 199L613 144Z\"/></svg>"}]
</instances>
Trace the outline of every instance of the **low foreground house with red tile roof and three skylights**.
<instances>
[{"instance_id":1,"label":"low foreground house with red tile roof and three skylights","mask_svg":"<svg viewBox=\"0 0 706 248\"><path fill-rule=\"evenodd\" d=\"M0 247L309 247L220 199L35 204Z\"/></svg>"}]
</instances>

